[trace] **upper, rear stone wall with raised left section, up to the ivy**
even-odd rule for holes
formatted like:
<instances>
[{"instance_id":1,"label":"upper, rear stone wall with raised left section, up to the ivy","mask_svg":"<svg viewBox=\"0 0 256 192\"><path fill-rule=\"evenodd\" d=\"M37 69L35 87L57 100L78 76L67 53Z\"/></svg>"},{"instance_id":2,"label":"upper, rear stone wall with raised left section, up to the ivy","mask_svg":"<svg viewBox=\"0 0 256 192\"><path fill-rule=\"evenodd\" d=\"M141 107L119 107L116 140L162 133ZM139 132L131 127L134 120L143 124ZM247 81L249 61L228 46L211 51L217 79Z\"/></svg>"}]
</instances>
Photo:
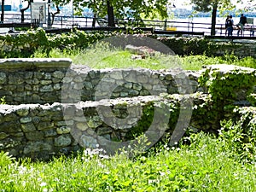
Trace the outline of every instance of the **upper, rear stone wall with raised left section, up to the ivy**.
<instances>
[{"instance_id":1,"label":"upper, rear stone wall with raised left section, up to the ivy","mask_svg":"<svg viewBox=\"0 0 256 192\"><path fill-rule=\"evenodd\" d=\"M199 73L182 70L93 70L61 59L0 61L0 97L7 104L94 101L104 97L191 93ZM113 87L109 95L109 86Z\"/></svg>"}]
</instances>

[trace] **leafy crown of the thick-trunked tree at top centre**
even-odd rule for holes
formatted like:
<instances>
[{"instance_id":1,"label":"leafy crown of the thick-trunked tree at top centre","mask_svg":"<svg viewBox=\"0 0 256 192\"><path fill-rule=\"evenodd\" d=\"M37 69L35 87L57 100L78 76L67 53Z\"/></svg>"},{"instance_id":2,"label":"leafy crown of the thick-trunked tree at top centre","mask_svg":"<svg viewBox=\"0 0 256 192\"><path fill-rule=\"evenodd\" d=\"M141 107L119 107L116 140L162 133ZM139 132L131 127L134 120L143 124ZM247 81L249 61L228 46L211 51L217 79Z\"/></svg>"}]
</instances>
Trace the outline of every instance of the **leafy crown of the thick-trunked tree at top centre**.
<instances>
[{"instance_id":1,"label":"leafy crown of the thick-trunked tree at top centre","mask_svg":"<svg viewBox=\"0 0 256 192\"><path fill-rule=\"evenodd\" d=\"M61 3L70 3L71 0L61 0ZM166 4L168 0L73 0L73 8L78 14L87 7L94 15L108 16L108 26L115 26L115 19L141 19L141 15L154 18L156 14L166 18ZM95 17L96 17L95 16Z\"/></svg>"}]
</instances>

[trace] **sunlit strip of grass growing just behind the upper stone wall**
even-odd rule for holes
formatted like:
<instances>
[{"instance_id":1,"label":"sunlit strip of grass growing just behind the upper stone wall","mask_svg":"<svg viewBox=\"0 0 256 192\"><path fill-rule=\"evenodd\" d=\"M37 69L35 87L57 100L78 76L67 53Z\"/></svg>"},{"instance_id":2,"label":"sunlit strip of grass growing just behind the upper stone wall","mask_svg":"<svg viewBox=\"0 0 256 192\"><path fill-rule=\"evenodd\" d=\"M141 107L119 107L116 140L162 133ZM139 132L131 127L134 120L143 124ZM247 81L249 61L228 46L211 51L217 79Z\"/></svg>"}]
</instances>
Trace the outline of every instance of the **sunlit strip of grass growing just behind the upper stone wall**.
<instances>
[{"instance_id":1,"label":"sunlit strip of grass growing just behind the upper stone wall","mask_svg":"<svg viewBox=\"0 0 256 192\"><path fill-rule=\"evenodd\" d=\"M96 45L93 49L60 50L52 49L49 55L38 49L33 57L71 58L74 64L86 65L92 68L131 68L142 67L154 70L183 68L184 70L200 70L203 66L214 64L232 64L241 67L256 68L256 59L245 57L239 59L236 55L209 57L207 55L161 55L146 56L145 59L132 59L131 52L122 49L109 49L108 45Z\"/></svg>"}]
</instances>

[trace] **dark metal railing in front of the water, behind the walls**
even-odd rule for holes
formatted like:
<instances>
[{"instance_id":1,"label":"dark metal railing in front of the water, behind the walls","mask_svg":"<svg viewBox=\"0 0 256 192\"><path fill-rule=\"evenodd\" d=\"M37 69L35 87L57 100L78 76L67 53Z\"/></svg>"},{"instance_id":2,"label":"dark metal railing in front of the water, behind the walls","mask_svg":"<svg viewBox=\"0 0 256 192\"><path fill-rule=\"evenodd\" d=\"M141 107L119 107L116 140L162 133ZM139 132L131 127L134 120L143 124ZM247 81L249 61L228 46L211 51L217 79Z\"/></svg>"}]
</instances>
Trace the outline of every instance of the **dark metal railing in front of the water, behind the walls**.
<instances>
[{"instance_id":1,"label":"dark metal railing in front of the water, behind the walls","mask_svg":"<svg viewBox=\"0 0 256 192\"><path fill-rule=\"evenodd\" d=\"M4 23L19 23L21 20L20 14L5 14ZM31 22L31 16L29 14L25 15L25 23ZM152 28L154 31L169 31L169 32L204 32L205 35L211 34L211 23L200 23L200 22L183 22L176 20L134 20L134 19L125 19L125 20L115 20L116 26L119 27L147 27ZM1 25L0 25L1 26ZM92 17L79 17L79 16L59 16L56 15L52 26L50 28L84 28L92 27L93 18ZM99 26L108 26L108 21L103 18L96 18L96 27ZM43 27L47 28L47 24L44 24ZM225 35L224 24L216 24L216 36ZM245 27L245 31L242 36L252 37L256 31L256 26L250 25ZM233 36L236 36L236 26L234 28Z\"/></svg>"}]
</instances>

